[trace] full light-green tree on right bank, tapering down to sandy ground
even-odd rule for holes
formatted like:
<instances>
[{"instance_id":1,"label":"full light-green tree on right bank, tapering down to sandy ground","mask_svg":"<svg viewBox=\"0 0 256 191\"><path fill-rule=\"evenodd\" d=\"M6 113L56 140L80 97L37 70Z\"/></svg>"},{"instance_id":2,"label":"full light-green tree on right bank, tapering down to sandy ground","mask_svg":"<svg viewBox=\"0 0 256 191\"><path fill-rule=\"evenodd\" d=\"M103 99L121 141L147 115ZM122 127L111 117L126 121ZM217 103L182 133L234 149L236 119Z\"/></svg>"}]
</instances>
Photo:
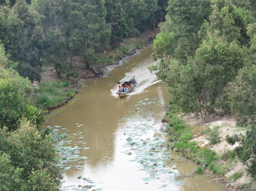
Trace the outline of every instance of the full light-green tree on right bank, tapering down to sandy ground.
<instances>
[{"instance_id":1,"label":"full light-green tree on right bank, tapering down to sandy ground","mask_svg":"<svg viewBox=\"0 0 256 191\"><path fill-rule=\"evenodd\" d=\"M224 93L224 87L236 76L243 66L246 49L240 48L236 41L228 43L218 32L208 34L200 45L192 62L196 75L198 105L207 116Z\"/></svg>"}]
</instances>

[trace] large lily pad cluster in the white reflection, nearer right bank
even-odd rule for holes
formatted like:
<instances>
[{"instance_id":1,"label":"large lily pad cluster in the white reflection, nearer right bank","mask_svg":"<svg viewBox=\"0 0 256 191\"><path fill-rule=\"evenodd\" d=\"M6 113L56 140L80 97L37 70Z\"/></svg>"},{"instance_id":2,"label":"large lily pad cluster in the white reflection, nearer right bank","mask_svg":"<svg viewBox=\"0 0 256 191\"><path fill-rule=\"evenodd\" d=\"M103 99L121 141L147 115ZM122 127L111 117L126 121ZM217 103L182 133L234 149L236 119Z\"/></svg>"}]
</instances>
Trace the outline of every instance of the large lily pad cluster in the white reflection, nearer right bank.
<instances>
[{"instance_id":1,"label":"large lily pad cluster in the white reflection, nearer right bank","mask_svg":"<svg viewBox=\"0 0 256 191\"><path fill-rule=\"evenodd\" d=\"M145 98L143 101L137 103L138 104L135 106L139 107L157 102ZM140 108L137 108L134 112L140 112ZM146 171L147 174L149 174L148 177L142 178L145 183L161 179L163 174L169 174L170 178L168 178L168 180L162 179L161 181L165 182L165 184L159 188L165 188L169 183L180 185L181 182L175 180L178 171L175 168L173 169L174 162L172 162L173 160L170 157L170 153L166 150L167 144L164 135L154 137L154 134L162 134L159 132L159 124L155 123L152 119L145 118L142 121L141 118L142 117L140 116L140 123L135 122L126 126L124 134L127 138L126 143L123 146L127 147L127 150L124 153L135 155L135 158L130 161L140 163L141 168L138 170ZM145 137L145 135L148 137ZM171 162L167 163L167 159Z\"/></svg>"}]
</instances>

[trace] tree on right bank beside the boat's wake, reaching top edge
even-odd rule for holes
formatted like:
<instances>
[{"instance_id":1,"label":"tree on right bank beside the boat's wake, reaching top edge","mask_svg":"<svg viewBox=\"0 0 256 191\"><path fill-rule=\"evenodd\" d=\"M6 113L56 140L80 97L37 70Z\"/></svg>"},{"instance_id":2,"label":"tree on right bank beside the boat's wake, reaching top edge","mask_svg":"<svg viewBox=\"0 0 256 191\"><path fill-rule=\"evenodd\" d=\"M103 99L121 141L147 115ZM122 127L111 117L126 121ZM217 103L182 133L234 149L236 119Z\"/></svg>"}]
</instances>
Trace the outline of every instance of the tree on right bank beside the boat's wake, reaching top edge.
<instances>
[{"instance_id":1,"label":"tree on right bank beside the boat's wake, reaching top edge","mask_svg":"<svg viewBox=\"0 0 256 191\"><path fill-rule=\"evenodd\" d=\"M197 33L204 19L208 19L209 7L209 0L169 1L166 21L154 40L155 56L162 57L164 52L186 64L199 45Z\"/></svg>"}]
</instances>

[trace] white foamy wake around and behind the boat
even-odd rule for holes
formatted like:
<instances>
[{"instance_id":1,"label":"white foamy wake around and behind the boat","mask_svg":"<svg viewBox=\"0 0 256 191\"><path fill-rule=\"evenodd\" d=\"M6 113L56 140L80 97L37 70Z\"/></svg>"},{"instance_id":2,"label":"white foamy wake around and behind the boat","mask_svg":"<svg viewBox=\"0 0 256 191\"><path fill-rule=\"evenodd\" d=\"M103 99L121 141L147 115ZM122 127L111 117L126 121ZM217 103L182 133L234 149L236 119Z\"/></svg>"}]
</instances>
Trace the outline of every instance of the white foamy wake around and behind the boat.
<instances>
[{"instance_id":1,"label":"white foamy wake around and behind the boat","mask_svg":"<svg viewBox=\"0 0 256 191\"><path fill-rule=\"evenodd\" d=\"M136 65L132 69L132 71L126 73L127 75L135 75L137 80L137 85L134 90L130 93L127 93L126 96L142 93L148 87L151 87L152 85L155 85L162 81L157 78L155 74L156 72L151 72L148 69L150 65L154 65L158 62L159 61L155 61L152 57L148 57L147 59ZM115 93L117 87L118 85L116 84L112 89L110 89L110 91L111 95L118 98L119 96Z\"/></svg>"}]
</instances>

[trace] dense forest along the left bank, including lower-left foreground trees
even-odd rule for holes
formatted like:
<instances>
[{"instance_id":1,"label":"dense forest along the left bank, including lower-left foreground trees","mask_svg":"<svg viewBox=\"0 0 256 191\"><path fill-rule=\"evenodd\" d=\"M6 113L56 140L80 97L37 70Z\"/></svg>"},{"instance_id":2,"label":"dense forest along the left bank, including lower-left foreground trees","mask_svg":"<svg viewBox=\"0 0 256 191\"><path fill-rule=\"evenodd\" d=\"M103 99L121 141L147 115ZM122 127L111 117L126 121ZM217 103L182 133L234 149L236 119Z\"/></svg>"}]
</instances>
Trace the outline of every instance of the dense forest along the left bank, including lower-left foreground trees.
<instances>
[{"instance_id":1,"label":"dense forest along the left bank, including lower-left foreground trees","mask_svg":"<svg viewBox=\"0 0 256 191\"><path fill-rule=\"evenodd\" d=\"M59 190L62 173L44 113L31 101L42 67L75 75L128 37L158 27L167 0L0 0L0 190Z\"/></svg>"}]
</instances>

